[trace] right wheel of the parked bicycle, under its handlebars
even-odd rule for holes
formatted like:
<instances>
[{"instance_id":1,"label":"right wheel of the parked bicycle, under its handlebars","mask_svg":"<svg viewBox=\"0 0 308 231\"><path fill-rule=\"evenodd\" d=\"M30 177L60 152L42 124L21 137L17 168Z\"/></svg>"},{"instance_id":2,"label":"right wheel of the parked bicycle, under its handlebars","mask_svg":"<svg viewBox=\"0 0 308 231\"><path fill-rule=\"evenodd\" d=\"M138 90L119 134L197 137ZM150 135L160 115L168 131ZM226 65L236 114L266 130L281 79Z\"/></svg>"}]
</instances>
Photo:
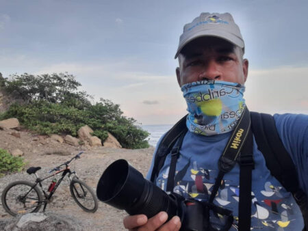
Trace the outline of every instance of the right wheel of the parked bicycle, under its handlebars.
<instances>
[{"instance_id":1,"label":"right wheel of the parked bicycle, under its handlebars","mask_svg":"<svg viewBox=\"0 0 308 231\"><path fill-rule=\"evenodd\" d=\"M70 194L72 194L79 207L88 213L95 213L99 207L99 202L93 190L85 182L77 178L73 178L70 182ZM88 198L86 198L87 195Z\"/></svg>"}]
</instances>

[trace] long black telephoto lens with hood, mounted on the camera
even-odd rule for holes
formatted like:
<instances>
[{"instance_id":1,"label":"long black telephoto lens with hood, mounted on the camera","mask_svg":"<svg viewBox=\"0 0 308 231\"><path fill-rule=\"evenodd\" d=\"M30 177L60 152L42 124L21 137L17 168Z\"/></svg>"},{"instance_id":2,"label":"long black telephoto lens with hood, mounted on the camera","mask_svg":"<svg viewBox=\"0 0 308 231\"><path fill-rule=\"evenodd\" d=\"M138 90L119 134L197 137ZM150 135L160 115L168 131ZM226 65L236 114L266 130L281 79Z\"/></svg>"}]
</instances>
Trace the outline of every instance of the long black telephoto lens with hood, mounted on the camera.
<instances>
[{"instance_id":1,"label":"long black telephoto lens with hood, mounted on the camera","mask_svg":"<svg viewBox=\"0 0 308 231\"><path fill-rule=\"evenodd\" d=\"M144 214L150 218L166 211L168 219L177 214L177 201L149 180L124 159L105 169L97 185L97 198L106 204L124 209L129 215Z\"/></svg>"}]
</instances>

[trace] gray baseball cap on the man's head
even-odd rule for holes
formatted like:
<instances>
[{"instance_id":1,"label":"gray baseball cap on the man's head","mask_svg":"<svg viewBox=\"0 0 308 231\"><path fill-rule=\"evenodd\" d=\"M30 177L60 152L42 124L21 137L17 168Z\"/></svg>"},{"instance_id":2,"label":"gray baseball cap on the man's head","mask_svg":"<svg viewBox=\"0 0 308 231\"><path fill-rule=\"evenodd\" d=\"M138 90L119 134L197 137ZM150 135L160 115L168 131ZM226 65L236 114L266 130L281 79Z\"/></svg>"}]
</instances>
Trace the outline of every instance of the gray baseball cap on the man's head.
<instances>
[{"instance_id":1,"label":"gray baseball cap on the man's head","mask_svg":"<svg viewBox=\"0 0 308 231\"><path fill-rule=\"evenodd\" d=\"M235 24L231 14L201 13L192 23L184 26L175 59L188 42L203 36L222 38L239 46L244 52L245 45L240 28Z\"/></svg>"}]
</instances>

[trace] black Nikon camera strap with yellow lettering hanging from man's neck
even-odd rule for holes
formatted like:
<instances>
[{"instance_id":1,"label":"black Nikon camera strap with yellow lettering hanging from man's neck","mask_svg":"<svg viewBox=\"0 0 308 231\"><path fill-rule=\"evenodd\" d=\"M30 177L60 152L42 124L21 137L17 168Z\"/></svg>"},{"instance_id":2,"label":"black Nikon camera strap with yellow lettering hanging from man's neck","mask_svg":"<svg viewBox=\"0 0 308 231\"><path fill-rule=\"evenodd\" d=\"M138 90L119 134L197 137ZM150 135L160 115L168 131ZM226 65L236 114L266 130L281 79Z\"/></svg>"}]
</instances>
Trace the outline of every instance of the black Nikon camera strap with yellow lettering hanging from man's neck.
<instances>
[{"instance_id":1,"label":"black Nikon camera strap with yellow lettering hanging from man's neck","mask_svg":"<svg viewBox=\"0 0 308 231\"><path fill-rule=\"evenodd\" d=\"M171 150L171 162L168 174L166 191L173 191L175 184L175 167L179 157L179 150L185 137L183 131L177 143ZM242 152L241 152L242 150ZM237 161L240 162L240 201L239 201L239 230L250 230L251 228L251 181L253 162L253 133L251 132L251 116L244 108L238 124L235 126L231 137L224 148L218 161L218 176L211 191L209 203L213 203L218 189L222 183L224 174L233 169Z\"/></svg>"}]
</instances>

